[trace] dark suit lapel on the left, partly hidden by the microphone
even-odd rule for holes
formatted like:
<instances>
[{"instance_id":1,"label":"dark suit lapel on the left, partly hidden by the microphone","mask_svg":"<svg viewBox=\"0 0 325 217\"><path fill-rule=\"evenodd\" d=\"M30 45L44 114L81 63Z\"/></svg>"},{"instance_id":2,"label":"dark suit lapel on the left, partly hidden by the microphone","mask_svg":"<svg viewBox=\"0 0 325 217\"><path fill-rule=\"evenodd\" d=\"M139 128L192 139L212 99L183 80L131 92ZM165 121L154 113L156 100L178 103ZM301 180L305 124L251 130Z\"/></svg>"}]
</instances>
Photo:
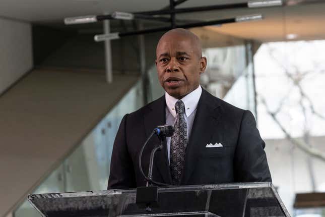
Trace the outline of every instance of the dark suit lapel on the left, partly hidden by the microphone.
<instances>
[{"instance_id":1,"label":"dark suit lapel on the left, partly hidden by the microphone","mask_svg":"<svg viewBox=\"0 0 325 217\"><path fill-rule=\"evenodd\" d=\"M165 95L160 97L158 100L154 101L150 106L150 111L145 113L144 123L146 129L147 138L152 133L153 129L159 125L164 125L166 123L166 100ZM155 139L154 142L159 143L158 139ZM157 152L155 155L155 162L158 168L158 171L161 173L165 183L171 183L171 175L169 170L169 163L167 161L167 143L160 152Z\"/></svg>"}]
</instances>

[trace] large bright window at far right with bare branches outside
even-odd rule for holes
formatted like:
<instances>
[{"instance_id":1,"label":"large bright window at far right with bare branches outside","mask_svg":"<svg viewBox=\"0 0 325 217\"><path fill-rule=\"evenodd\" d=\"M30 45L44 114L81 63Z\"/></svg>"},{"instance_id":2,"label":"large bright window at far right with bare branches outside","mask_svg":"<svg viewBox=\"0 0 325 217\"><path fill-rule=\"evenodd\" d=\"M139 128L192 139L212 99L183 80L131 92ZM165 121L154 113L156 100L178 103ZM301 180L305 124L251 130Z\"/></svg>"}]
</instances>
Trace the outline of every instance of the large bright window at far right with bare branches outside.
<instances>
[{"instance_id":1,"label":"large bright window at far right with bare branches outside","mask_svg":"<svg viewBox=\"0 0 325 217\"><path fill-rule=\"evenodd\" d=\"M273 183L294 216L325 216L293 208L296 193L325 192L324 49L324 40L271 42L254 58L259 131Z\"/></svg>"}]
</instances>

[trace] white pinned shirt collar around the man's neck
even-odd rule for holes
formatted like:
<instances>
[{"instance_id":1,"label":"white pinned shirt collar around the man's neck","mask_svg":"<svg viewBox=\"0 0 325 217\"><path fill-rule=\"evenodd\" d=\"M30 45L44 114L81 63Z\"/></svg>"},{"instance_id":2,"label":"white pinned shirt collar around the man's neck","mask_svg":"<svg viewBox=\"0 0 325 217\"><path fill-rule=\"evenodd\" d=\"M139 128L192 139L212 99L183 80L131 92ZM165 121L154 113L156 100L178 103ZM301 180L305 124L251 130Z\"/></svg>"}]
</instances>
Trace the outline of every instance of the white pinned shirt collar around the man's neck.
<instances>
[{"instance_id":1,"label":"white pinned shirt collar around the man's neck","mask_svg":"<svg viewBox=\"0 0 325 217\"><path fill-rule=\"evenodd\" d=\"M185 114L187 117L190 116L192 112L197 109L201 93L202 87L201 85L199 85L197 89L193 90L192 92L188 93L186 96L181 98L185 105ZM175 103L178 99L172 97L167 92L165 92L165 99L168 111L174 118L176 118Z\"/></svg>"}]
</instances>

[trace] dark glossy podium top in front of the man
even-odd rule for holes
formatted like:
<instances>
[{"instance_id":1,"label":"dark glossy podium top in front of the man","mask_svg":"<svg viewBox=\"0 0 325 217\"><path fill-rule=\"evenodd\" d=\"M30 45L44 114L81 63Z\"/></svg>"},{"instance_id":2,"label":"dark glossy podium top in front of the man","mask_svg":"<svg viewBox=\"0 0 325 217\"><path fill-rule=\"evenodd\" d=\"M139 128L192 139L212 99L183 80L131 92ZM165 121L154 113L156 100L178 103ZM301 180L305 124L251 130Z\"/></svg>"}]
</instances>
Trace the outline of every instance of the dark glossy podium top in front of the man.
<instances>
[{"instance_id":1,"label":"dark glossy podium top in front of the man","mask_svg":"<svg viewBox=\"0 0 325 217\"><path fill-rule=\"evenodd\" d=\"M42 216L290 216L271 183L159 187L158 202L136 203L137 189L31 194Z\"/></svg>"}]
</instances>

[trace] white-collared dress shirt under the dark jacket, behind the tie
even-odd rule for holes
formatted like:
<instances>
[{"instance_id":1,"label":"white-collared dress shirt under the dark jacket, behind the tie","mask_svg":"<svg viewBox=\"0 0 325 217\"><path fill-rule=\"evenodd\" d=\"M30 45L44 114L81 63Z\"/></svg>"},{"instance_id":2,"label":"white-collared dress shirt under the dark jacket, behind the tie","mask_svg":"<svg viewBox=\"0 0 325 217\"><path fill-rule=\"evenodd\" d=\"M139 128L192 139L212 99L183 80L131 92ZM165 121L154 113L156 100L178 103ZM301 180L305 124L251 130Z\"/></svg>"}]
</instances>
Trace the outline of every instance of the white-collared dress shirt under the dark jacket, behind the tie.
<instances>
[{"instance_id":1,"label":"white-collared dress shirt under the dark jacket, behind the tie","mask_svg":"<svg viewBox=\"0 0 325 217\"><path fill-rule=\"evenodd\" d=\"M185 120L187 123L187 141L189 140L189 136L192 130L193 121L195 118L195 114L197 113L198 102L201 97L202 88L201 85L192 92L188 93L186 96L181 98L185 105ZM176 111L175 111L175 103L179 100L167 92L165 92L165 99L166 99L166 124L174 126L176 121ZM167 151L168 151L168 162L169 162L169 153L170 153L170 140L171 137L167 137Z\"/></svg>"}]
</instances>

